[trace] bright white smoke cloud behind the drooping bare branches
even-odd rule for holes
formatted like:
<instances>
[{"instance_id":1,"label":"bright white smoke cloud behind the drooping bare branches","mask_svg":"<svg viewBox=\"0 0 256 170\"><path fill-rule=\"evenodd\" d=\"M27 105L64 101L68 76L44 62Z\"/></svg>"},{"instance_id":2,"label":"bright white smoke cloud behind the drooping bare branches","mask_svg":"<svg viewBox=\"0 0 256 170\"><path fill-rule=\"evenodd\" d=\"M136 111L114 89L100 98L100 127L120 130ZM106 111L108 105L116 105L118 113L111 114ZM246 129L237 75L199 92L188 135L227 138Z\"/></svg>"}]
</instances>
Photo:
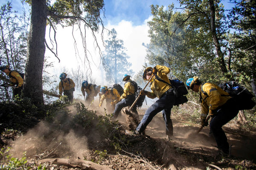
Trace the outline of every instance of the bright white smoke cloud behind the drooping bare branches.
<instances>
[{"instance_id":1,"label":"bright white smoke cloud behind the drooping bare branches","mask_svg":"<svg viewBox=\"0 0 256 170\"><path fill-rule=\"evenodd\" d=\"M142 65L145 62L145 55L146 55L146 49L142 45L144 42L145 44L149 43L150 38L148 37L148 26L146 24L146 21L151 20L151 17L149 17L142 25L134 26L131 21L125 21L122 20L117 25L111 25L107 24L105 28L108 28L111 30L114 28L117 31L117 37L124 42L124 46L127 49L126 54L130 56L129 62L132 63L131 69L134 70L135 73L140 71L143 67ZM47 29L47 35L46 38L48 38L49 34L49 28ZM52 31L53 32L53 31ZM72 35L72 27L66 27L62 28L59 26L57 28L57 35L56 40L58 43L58 57L61 59L61 62L58 63L58 59L56 59L53 54L47 49L46 56L52 56L51 61L54 61L54 67L51 69L53 74L56 74L57 76L60 74L58 71L61 70L61 68L65 67L67 69L76 68L79 65L83 66L83 63L88 63L87 60L84 61L84 50L82 45L82 40L80 36L79 29L74 29L73 35L76 38L76 44L79 51L75 51L74 48L74 39ZM102 45L102 40L100 38L100 34L97 34L98 43L101 47L101 50L104 51L104 47ZM107 40L107 34L104 34L105 40ZM50 45L49 38L47 39L48 45ZM101 80L99 79L100 76L100 70L97 69L96 66L99 66L99 51L96 49L95 51L95 41L90 33L90 31L87 30L86 35L86 45L88 51L90 51L90 54L88 54L90 59L90 65L93 70L93 77L96 79L97 83L101 83ZM79 56L81 59L79 58ZM77 56L77 57L76 57ZM92 62L96 64L94 65ZM57 79L57 77L56 77Z\"/></svg>"}]
</instances>

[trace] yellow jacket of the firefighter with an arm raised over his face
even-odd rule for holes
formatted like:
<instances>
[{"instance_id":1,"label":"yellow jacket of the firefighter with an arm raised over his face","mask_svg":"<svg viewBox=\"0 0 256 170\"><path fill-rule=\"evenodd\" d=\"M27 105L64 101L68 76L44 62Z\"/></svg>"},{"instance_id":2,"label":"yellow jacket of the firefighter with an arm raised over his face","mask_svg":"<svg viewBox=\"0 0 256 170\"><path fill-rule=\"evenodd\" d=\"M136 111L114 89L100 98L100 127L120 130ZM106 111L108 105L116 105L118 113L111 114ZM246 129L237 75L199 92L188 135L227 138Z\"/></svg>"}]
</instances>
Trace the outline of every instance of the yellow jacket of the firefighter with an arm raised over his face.
<instances>
[{"instance_id":1,"label":"yellow jacket of the firefighter with an arm raised over his face","mask_svg":"<svg viewBox=\"0 0 256 170\"><path fill-rule=\"evenodd\" d=\"M156 65L156 69L158 70L157 76L171 84L169 78L167 77L167 74L170 73L170 69L162 65ZM154 99L155 97L160 98L170 88L172 88L170 85L158 81L156 77L153 76L151 79L151 92L147 93L146 95L151 99Z\"/></svg>"}]
</instances>

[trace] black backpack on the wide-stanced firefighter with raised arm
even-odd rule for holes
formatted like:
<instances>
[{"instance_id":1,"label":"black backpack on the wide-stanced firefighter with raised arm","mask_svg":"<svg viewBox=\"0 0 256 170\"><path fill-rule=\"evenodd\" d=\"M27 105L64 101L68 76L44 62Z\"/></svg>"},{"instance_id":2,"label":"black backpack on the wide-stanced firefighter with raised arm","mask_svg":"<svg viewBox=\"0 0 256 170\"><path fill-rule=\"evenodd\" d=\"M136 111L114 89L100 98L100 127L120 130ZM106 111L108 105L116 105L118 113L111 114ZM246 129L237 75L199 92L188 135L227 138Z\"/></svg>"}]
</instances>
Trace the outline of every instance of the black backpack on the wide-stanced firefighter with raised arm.
<instances>
[{"instance_id":1,"label":"black backpack on the wide-stanced firefighter with raised arm","mask_svg":"<svg viewBox=\"0 0 256 170\"><path fill-rule=\"evenodd\" d=\"M156 79L160 82L164 82L168 85L170 85L168 82L164 81L160 77L156 77ZM179 79L169 79L171 82L171 85L175 89L175 103L173 104L174 106L181 105L183 103L186 103L188 101L188 98L184 95L188 94L188 90L184 84L184 82L181 82Z\"/></svg>"}]
</instances>

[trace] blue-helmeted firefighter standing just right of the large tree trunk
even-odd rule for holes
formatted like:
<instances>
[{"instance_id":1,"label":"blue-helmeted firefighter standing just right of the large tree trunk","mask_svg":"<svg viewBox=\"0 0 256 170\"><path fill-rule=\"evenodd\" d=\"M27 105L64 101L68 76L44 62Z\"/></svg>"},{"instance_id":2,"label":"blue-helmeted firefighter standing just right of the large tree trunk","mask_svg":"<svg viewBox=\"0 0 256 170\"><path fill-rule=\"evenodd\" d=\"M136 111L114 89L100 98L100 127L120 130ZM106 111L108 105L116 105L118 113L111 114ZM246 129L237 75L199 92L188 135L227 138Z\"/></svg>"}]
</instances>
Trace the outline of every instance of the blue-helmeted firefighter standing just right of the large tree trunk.
<instances>
[{"instance_id":1,"label":"blue-helmeted firefighter standing just right of the large tree trunk","mask_svg":"<svg viewBox=\"0 0 256 170\"><path fill-rule=\"evenodd\" d=\"M67 78L66 73L61 73L59 78L61 79L58 86L60 96L62 95L62 93L64 93L64 95L68 97L68 100L70 102L73 102L73 92L75 91L75 83L72 79Z\"/></svg>"}]
</instances>

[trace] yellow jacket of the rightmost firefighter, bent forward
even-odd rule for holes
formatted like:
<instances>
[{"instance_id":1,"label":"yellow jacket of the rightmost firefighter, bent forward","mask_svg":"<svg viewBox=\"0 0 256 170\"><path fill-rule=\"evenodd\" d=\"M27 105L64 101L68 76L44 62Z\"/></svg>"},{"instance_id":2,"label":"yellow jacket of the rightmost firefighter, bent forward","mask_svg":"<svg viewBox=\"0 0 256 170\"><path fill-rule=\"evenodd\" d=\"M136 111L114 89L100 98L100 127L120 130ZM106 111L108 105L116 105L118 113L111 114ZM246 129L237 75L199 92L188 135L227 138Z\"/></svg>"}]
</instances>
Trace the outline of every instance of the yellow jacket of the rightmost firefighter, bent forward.
<instances>
[{"instance_id":1,"label":"yellow jacket of the rightmost firefighter, bent forward","mask_svg":"<svg viewBox=\"0 0 256 170\"><path fill-rule=\"evenodd\" d=\"M203 91L201 89L203 88ZM204 93L207 93L204 94ZM222 90L218 85L206 82L203 86L200 85L199 93L201 94L201 119L205 119L207 114L214 114L214 110L224 105L231 97Z\"/></svg>"}]
</instances>

